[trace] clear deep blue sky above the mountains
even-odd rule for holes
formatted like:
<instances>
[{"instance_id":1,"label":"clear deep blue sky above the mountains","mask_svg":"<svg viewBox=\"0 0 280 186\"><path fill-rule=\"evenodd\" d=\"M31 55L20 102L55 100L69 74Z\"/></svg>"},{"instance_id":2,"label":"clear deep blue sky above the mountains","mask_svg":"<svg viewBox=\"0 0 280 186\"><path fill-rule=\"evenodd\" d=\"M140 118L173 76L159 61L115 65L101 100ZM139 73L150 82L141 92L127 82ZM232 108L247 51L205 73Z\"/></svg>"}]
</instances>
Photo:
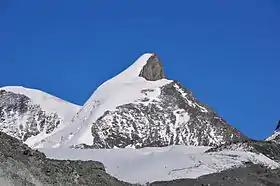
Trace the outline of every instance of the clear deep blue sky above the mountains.
<instances>
[{"instance_id":1,"label":"clear deep blue sky above the mountains","mask_svg":"<svg viewBox=\"0 0 280 186\"><path fill-rule=\"evenodd\" d=\"M156 52L169 79L249 137L280 119L279 0L1 0L0 49L0 86L83 104Z\"/></svg>"}]
</instances>

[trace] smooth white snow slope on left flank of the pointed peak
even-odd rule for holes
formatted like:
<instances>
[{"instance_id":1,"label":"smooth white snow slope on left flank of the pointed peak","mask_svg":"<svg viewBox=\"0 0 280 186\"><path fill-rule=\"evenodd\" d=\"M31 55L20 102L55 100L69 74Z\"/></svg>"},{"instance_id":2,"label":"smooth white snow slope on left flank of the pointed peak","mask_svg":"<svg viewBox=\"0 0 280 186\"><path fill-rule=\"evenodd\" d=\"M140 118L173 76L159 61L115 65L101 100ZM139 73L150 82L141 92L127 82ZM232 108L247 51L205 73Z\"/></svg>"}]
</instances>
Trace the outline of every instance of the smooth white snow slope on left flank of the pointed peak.
<instances>
[{"instance_id":1,"label":"smooth white snow slope on left flank of the pointed peak","mask_svg":"<svg viewBox=\"0 0 280 186\"><path fill-rule=\"evenodd\" d=\"M150 100L157 99L160 87L172 82L166 79L158 81L147 81L139 74L146 65L147 60L153 54L144 54L130 67L119 75L109 79L99 86L75 118L63 131L47 139L44 147L71 146L76 144L93 143L91 133L92 123L95 122L107 110L114 110L117 106L126 103L139 102L145 95L143 89L155 90L150 94Z\"/></svg>"}]
</instances>

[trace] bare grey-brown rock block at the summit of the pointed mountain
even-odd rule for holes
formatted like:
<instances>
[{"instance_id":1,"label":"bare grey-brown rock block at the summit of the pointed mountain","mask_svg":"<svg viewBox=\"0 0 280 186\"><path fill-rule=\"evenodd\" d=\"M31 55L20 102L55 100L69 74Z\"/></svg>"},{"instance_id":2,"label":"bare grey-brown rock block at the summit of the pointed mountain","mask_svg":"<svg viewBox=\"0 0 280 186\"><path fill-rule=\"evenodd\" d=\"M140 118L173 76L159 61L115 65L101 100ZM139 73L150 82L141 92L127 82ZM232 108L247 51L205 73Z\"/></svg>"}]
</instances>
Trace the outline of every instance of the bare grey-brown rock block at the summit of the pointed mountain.
<instances>
[{"instance_id":1,"label":"bare grey-brown rock block at the summit of the pointed mountain","mask_svg":"<svg viewBox=\"0 0 280 186\"><path fill-rule=\"evenodd\" d=\"M163 70L163 64L155 53L151 54L139 76L148 81L157 81L166 78Z\"/></svg>"}]
</instances>

